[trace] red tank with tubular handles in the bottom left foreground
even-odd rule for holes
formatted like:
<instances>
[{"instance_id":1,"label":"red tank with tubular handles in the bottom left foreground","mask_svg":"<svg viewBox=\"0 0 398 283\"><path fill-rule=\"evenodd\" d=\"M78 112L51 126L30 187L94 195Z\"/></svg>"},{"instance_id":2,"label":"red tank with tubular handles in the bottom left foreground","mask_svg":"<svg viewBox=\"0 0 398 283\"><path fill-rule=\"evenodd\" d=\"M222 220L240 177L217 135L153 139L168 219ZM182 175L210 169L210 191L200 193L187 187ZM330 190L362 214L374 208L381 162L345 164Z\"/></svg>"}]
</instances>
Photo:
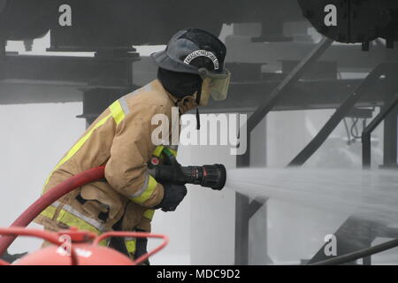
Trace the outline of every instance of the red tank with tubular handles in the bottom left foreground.
<instances>
[{"instance_id":1,"label":"red tank with tubular handles in the bottom left foreground","mask_svg":"<svg viewBox=\"0 0 398 283\"><path fill-rule=\"evenodd\" d=\"M21 227L0 228L0 234L32 236L41 238L54 244L44 249L39 249L32 254L23 256L16 265L136 265L141 264L149 256L165 248L168 238L161 234L139 232L109 232L97 236L96 233L71 230L58 233L47 232ZM131 261L129 257L115 249L100 246L100 242L109 237L134 237L134 238L159 238L163 242L149 253ZM67 241L65 241L67 240ZM0 265L9 263L0 260Z\"/></svg>"}]
</instances>

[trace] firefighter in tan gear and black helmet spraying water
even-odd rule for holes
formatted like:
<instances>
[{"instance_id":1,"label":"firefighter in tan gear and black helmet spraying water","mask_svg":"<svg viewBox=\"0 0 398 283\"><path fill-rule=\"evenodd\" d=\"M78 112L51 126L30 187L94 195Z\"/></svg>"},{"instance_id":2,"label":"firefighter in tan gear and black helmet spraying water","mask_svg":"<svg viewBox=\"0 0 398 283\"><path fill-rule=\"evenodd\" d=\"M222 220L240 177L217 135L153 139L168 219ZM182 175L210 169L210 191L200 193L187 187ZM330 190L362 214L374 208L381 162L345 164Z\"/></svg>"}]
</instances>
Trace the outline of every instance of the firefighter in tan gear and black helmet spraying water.
<instances>
[{"instance_id":1,"label":"firefighter in tan gear and black helmet spraying water","mask_svg":"<svg viewBox=\"0 0 398 283\"><path fill-rule=\"evenodd\" d=\"M105 165L103 180L74 190L42 211L34 221L45 229L150 232L155 210L173 211L187 195L185 186L160 184L148 172L152 157L163 160L177 154L151 141L157 127L152 118L163 114L172 121L173 107L182 115L207 105L210 96L226 99L231 76L224 68L226 46L213 34L187 28L151 57L158 66L157 80L112 103L50 173L43 192L79 172ZM146 253L145 240L116 239L108 245L133 258Z\"/></svg>"}]
</instances>

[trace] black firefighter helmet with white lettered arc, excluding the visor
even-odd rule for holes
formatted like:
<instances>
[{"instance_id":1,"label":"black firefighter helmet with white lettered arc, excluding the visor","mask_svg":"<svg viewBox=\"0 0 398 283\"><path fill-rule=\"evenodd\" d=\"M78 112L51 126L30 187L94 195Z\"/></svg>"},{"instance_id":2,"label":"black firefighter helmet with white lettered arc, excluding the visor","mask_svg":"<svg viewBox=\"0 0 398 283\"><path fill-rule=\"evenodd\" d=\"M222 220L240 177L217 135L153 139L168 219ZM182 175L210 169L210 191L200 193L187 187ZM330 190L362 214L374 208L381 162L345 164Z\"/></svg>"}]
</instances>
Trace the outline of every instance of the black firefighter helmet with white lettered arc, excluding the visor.
<instances>
[{"instance_id":1,"label":"black firefighter helmet with white lettered arc, excluding the visor","mask_svg":"<svg viewBox=\"0 0 398 283\"><path fill-rule=\"evenodd\" d=\"M200 68L225 73L226 46L217 36L198 28L186 28L172 36L167 48L153 53L155 64L163 69L199 74Z\"/></svg>"}]
</instances>

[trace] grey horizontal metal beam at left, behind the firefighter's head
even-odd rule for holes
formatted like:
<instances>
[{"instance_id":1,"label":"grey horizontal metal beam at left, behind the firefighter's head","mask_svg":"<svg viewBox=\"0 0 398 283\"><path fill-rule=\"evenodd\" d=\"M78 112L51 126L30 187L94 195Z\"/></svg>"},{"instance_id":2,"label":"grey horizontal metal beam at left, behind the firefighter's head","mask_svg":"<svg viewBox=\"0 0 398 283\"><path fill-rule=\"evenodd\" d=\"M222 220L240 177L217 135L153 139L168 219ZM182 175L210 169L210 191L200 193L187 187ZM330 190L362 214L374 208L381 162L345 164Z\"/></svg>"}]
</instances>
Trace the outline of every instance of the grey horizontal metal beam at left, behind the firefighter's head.
<instances>
[{"instance_id":1,"label":"grey horizontal metal beam at left, behind the firefighter's head","mask_svg":"<svg viewBox=\"0 0 398 283\"><path fill-rule=\"evenodd\" d=\"M86 82L93 86L132 86L132 65L139 57L73 57L7 54L3 80Z\"/></svg>"}]
</instances>

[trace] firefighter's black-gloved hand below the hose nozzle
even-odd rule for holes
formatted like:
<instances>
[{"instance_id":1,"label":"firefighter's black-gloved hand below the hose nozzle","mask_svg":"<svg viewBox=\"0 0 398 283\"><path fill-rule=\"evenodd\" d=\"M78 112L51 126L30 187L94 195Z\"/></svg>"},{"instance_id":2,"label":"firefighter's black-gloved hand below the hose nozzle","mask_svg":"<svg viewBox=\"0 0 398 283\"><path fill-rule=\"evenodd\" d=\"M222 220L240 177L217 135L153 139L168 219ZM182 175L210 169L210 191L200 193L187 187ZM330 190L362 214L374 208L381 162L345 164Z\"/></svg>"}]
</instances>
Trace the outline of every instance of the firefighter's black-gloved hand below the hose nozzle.
<instances>
[{"instance_id":1,"label":"firefighter's black-gloved hand below the hose nozzle","mask_svg":"<svg viewBox=\"0 0 398 283\"><path fill-rule=\"evenodd\" d=\"M163 200L154 209L162 209L165 212L174 211L187 195L187 187L172 183L165 183L163 187L165 191Z\"/></svg>"}]
</instances>

